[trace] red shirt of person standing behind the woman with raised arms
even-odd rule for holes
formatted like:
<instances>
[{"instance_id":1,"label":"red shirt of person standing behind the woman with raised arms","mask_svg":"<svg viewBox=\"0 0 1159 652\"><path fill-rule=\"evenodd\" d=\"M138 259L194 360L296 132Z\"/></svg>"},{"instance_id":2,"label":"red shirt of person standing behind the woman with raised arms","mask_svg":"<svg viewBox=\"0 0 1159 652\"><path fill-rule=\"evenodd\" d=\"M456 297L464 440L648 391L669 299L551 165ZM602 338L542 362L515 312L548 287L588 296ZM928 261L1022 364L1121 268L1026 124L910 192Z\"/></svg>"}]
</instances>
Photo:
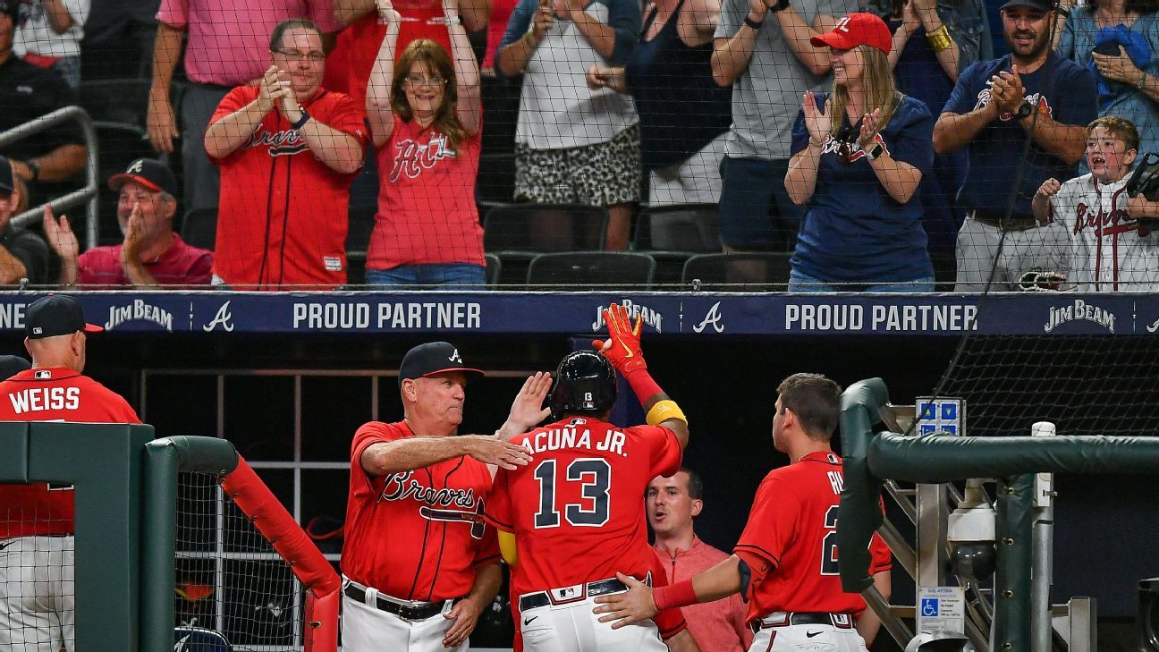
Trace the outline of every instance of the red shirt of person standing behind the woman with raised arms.
<instances>
[{"instance_id":1,"label":"red shirt of person standing behind the woman with raised arms","mask_svg":"<svg viewBox=\"0 0 1159 652\"><path fill-rule=\"evenodd\" d=\"M399 39L395 42L394 60L411 41L430 38L447 52L451 51L451 32L444 21L443 5L438 0L395 0L392 6L402 16ZM502 36L502 35L501 35ZM386 24L371 10L338 32L334 51L326 58L326 77L322 86L345 93L359 107L366 106L366 84L374 59L386 37ZM410 71L402 71L407 74Z\"/></svg>"}]
</instances>

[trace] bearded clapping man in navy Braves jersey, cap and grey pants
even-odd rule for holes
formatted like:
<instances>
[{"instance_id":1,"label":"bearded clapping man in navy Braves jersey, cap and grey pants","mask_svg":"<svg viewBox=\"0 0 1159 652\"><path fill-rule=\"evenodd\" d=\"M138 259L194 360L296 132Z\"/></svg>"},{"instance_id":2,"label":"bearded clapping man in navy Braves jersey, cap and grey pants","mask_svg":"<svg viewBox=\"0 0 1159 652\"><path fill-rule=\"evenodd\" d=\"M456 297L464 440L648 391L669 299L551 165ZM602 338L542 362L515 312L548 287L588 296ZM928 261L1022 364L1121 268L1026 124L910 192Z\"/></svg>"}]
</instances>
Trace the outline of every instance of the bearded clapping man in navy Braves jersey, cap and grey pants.
<instances>
[{"instance_id":1,"label":"bearded clapping man in navy Braves jersey, cap and grey pants","mask_svg":"<svg viewBox=\"0 0 1159 652\"><path fill-rule=\"evenodd\" d=\"M1076 175L1086 125L1098 116L1094 75L1050 48L1049 0L1008 0L1001 13L1011 53L968 67L934 125L938 153L969 146L957 194L967 211L960 292L984 290L991 271L994 290L1018 289L1028 271L1054 271L1051 230L1038 229L1030 200L1047 179Z\"/></svg>"}]
</instances>

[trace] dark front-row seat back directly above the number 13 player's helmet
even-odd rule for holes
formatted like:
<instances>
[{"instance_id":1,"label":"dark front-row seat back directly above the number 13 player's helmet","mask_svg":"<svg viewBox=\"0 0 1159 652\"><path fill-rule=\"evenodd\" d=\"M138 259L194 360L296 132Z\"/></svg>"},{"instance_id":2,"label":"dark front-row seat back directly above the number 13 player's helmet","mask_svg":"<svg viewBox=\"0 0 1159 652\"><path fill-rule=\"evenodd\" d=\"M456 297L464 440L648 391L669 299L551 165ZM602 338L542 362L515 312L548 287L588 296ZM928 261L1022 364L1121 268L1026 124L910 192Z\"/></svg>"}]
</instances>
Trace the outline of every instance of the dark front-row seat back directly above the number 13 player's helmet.
<instances>
[{"instance_id":1,"label":"dark front-row seat back directly above the number 13 player's helmet","mask_svg":"<svg viewBox=\"0 0 1159 652\"><path fill-rule=\"evenodd\" d=\"M656 261L632 252L563 252L540 254L527 268L527 289L647 290Z\"/></svg>"}]
</instances>

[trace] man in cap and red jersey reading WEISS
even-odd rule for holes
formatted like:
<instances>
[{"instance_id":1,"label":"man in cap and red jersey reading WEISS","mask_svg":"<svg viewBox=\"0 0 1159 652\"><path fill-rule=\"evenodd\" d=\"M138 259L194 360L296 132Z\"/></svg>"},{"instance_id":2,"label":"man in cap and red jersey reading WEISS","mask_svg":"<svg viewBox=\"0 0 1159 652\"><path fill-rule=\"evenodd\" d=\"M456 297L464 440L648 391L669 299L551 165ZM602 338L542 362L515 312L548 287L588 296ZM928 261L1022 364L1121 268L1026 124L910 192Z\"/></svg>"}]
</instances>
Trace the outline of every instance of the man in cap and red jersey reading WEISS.
<instances>
[{"instance_id":1,"label":"man in cap and red jersey reading WEISS","mask_svg":"<svg viewBox=\"0 0 1159 652\"><path fill-rule=\"evenodd\" d=\"M32 368L0 383L0 421L140 423L125 399L81 375L87 333L101 331L72 297L29 305ZM73 529L71 486L0 485L0 650L72 652Z\"/></svg>"}]
</instances>

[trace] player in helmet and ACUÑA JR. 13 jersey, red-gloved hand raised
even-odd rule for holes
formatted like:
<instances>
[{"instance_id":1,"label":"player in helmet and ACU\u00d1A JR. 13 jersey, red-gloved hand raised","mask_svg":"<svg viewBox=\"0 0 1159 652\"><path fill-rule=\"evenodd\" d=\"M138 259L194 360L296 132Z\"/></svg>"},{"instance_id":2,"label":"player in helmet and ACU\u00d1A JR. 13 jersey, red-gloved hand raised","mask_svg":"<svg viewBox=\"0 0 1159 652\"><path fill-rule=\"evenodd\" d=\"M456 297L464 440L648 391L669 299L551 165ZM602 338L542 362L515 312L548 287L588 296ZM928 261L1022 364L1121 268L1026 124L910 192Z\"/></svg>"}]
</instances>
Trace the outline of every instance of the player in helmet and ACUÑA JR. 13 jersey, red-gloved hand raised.
<instances>
[{"instance_id":1,"label":"player in helmet and ACU\u00d1A JR. 13 jersey, red-gloved hand raised","mask_svg":"<svg viewBox=\"0 0 1159 652\"><path fill-rule=\"evenodd\" d=\"M648 546L643 494L657 474L680 468L688 427L684 413L648 374L622 306L604 311L603 355L576 352L560 362L551 394L553 423L511 439L531 464L500 471L487 520L513 535L504 543L511 593L527 652L665 651L653 621L613 630L592 615L592 599L625 591L618 568L647 580L656 567ZM613 369L614 365L614 369ZM620 370L648 411L648 426L606 421Z\"/></svg>"}]
</instances>

